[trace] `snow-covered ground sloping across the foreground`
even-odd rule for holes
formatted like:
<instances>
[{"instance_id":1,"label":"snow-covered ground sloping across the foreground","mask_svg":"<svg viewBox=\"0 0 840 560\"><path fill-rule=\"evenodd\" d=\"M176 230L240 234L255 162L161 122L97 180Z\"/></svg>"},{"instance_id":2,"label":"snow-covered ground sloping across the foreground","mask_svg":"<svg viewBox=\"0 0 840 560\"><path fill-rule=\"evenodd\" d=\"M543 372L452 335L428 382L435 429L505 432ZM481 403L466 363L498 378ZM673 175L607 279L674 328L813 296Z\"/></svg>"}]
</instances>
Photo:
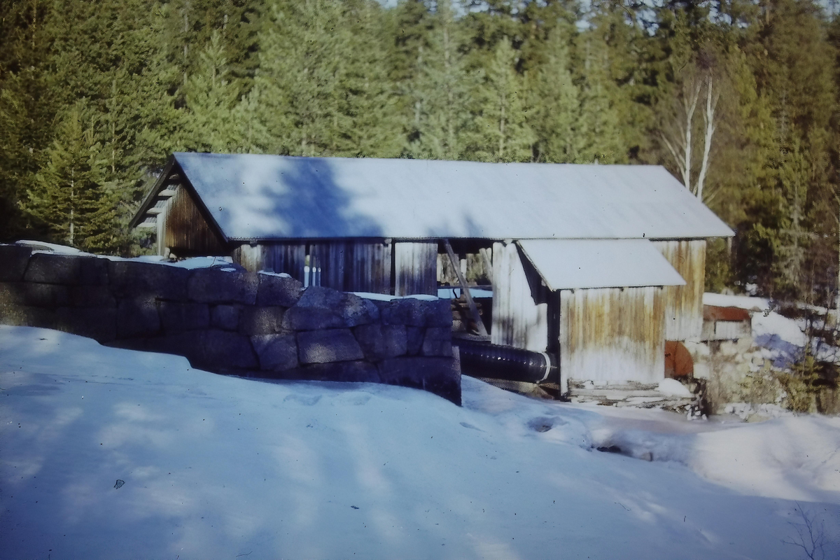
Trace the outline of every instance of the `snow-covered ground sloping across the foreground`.
<instances>
[{"instance_id":1,"label":"snow-covered ground sloping across the foreground","mask_svg":"<svg viewBox=\"0 0 840 560\"><path fill-rule=\"evenodd\" d=\"M689 423L463 386L459 408L0 327L0 557L787 559L795 500L840 540L837 418Z\"/></svg>"}]
</instances>

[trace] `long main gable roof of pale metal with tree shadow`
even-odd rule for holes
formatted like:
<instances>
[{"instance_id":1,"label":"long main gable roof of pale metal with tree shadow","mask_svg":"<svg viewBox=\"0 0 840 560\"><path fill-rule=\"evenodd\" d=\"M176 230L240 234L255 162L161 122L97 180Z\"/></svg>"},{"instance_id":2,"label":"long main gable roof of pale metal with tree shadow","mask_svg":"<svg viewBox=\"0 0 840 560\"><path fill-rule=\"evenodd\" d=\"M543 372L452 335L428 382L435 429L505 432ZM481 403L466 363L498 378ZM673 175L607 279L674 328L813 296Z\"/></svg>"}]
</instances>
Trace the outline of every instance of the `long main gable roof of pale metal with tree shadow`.
<instances>
[{"instance_id":1,"label":"long main gable roof of pale metal with tree shadow","mask_svg":"<svg viewBox=\"0 0 840 560\"><path fill-rule=\"evenodd\" d=\"M192 153L175 159L231 239L732 235L660 166Z\"/></svg>"}]
</instances>

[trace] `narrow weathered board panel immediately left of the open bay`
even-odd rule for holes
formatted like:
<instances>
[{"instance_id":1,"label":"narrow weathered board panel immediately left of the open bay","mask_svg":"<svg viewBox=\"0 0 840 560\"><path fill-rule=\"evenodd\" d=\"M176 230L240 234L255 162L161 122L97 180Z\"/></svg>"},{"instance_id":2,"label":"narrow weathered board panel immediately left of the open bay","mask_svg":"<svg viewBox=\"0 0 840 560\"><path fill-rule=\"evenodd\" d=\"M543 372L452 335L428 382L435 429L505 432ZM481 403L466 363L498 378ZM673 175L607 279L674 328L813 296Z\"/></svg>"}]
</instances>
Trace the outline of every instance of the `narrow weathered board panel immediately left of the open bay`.
<instances>
[{"instance_id":1,"label":"narrow weathered board panel immediately left of the open bay","mask_svg":"<svg viewBox=\"0 0 840 560\"><path fill-rule=\"evenodd\" d=\"M438 295L438 242L394 243L394 295Z\"/></svg>"}]
</instances>

